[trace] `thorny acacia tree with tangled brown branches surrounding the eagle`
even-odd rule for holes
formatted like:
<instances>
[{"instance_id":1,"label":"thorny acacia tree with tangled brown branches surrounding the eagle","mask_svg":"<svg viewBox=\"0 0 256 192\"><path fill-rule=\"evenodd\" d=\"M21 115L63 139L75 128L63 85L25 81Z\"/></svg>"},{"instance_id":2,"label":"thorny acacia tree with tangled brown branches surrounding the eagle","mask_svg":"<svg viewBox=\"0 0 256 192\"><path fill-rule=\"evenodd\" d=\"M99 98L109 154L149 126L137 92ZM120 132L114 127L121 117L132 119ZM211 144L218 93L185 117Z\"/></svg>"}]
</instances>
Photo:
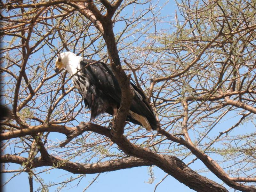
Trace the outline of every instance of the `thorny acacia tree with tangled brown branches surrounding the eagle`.
<instances>
[{"instance_id":1,"label":"thorny acacia tree with tangled brown branches surrounding the eagle","mask_svg":"<svg viewBox=\"0 0 256 192\"><path fill-rule=\"evenodd\" d=\"M34 191L33 180L51 169L78 174L59 183L62 189L84 174L155 165L196 191L256 191L256 5L176 3L173 18L149 0L2 3L1 100L10 108L2 121L2 172L27 172ZM53 71L63 51L111 65L122 90L116 118L83 122L90 112L70 77ZM161 129L125 122L131 76ZM57 143L54 132L67 139ZM226 187L189 168L195 161ZM41 182L43 191L51 186Z\"/></svg>"}]
</instances>

